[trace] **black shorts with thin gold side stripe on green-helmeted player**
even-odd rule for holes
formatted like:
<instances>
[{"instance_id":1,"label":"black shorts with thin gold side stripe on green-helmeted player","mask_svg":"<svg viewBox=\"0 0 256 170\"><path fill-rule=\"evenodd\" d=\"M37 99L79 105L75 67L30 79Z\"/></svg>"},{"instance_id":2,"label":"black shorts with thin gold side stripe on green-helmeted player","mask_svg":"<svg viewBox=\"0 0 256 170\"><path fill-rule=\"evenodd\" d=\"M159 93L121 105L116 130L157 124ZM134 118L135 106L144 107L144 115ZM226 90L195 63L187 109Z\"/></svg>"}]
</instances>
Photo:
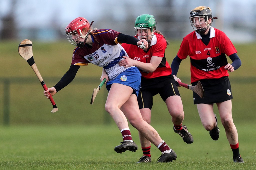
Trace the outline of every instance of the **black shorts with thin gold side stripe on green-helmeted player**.
<instances>
[{"instance_id":1,"label":"black shorts with thin gold side stripe on green-helmeted player","mask_svg":"<svg viewBox=\"0 0 256 170\"><path fill-rule=\"evenodd\" d=\"M139 108L150 108L153 106L153 96L160 94L161 98L165 100L174 95L179 94L178 82L174 80L173 76L162 76L153 79L141 79L141 89L138 95Z\"/></svg>"}]
</instances>

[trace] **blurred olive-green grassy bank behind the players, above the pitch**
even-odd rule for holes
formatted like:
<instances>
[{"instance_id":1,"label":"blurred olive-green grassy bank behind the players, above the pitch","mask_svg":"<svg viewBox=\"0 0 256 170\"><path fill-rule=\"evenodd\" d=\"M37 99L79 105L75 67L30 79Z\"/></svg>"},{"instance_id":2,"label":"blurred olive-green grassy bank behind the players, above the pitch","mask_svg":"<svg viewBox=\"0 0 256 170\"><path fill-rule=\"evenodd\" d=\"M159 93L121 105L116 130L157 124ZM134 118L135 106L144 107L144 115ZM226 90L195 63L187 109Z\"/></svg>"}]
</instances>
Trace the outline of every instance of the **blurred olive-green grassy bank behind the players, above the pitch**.
<instances>
[{"instance_id":1,"label":"blurred olive-green grassy bank behind the players, above the pitch","mask_svg":"<svg viewBox=\"0 0 256 170\"><path fill-rule=\"evenodd\" d=\"M80 67L76 78L54 95L59 111L51 113L52 105L43 95L43 88L34 71L18 54L20 41L0 42L0 124L112 124L113 120L104 110L107 96L105 86L98 93L94 104L90 104L94 87L98 87L102 69L89 64ZM166 56L169 64L179 49L181 41L170 41ZM230 73L234 99L232 114L234 122L255 123L255 46L256 43L234 44L242 66ZM67 41L33 41L36 65L48 87L54 86L69 69L74 46ZM231 60L228 58L228 61ZM182 61L178 77L190 84L190 60ZM184 105L184 124L200 123L192 91L180 87ZM217 112L217 107L215 105ZM7 113L8 117L5 114ZM154 97L152 123L169 123L171 117L159 95Z\"/></svg>"}]
</instances>

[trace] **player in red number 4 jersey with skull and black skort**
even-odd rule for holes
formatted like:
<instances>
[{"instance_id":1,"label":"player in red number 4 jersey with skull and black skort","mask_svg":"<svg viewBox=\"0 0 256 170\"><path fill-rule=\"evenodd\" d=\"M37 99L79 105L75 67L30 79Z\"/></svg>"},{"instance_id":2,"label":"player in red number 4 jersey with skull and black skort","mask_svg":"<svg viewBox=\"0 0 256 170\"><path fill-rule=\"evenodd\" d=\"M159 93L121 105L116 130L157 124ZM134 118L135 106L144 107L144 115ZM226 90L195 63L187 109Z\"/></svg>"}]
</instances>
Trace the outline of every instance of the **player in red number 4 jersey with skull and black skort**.
<instances>
[{"instance_id":1,"label":"player in red number 4 jersey with skull and black skort","mask_svg":"<svg viewBox=\"0 0 256 170\"><path fill-rule=\"evenodd\" d=\"M233 151L233 161L243 163L238 148L238 133L232 118L231 86L228 71L233 72L241 66L237 50L227 35L211 27L211 9L199 6L190 11L191 26L195 31L188 34L182 41L177 56L173 59L171 68L177 75L180 62L190 57L191 83L196 85L200 80L204 88L204 98L193 92L194 104L197 105L202 125L209 131L213 140L219 138L217 116L213 106L216 103L221 123ZM228 63L227 56L232 60ZM178 79L180 81L180 79Z\"/></svg>"}]
</instances>

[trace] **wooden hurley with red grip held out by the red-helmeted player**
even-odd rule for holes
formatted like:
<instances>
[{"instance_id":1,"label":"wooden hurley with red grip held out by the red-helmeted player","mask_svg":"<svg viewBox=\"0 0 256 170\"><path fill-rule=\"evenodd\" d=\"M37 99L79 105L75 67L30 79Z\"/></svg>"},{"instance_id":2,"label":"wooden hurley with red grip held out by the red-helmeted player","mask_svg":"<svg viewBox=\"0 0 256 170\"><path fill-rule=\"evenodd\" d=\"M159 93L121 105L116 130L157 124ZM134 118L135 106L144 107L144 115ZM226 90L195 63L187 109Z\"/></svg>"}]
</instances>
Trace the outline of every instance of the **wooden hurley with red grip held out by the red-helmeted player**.
<instances>
[{"instance_id":1,"label":"wooden hurley with red grip held out by the red-helmeted player","mask_svg":"<svg viewBox=\"0 0 256 170\"><path fill-rule=\"evenodd\" d=\"M31 66L31 68L34 70L34 72L36 73L36 76L39 79L42 87L46 91L48 88L47 88L44 80L42 79L42 76L40 75L40 72L38 71L36 63L34 61L33 51L32 51L32 42L30 40L23 40L19 44L18 52L19 52L19 55L22 56L27 61L27 63ZM52 109L51 113L57 112L58 108L57 108L51 94L50 94L49 99L50 99L51 104L53 106L53 109Z\"/></svg>"}]
</instances>

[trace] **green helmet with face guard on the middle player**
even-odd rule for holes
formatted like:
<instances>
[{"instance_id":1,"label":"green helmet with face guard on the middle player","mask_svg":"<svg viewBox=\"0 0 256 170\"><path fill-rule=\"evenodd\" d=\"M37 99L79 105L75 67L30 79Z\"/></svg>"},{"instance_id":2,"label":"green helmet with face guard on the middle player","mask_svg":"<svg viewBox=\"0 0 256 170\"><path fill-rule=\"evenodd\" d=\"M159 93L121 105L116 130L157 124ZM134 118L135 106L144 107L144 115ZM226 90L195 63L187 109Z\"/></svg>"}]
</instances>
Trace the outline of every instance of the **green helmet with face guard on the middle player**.
<instances>
[{"instance_id":1,"label":"green helmet with face guard on the middle player","mask_svg":"<svg viewBox=\"0 0 256 170\"><path fill-rule=\"evenodd\" d=\"M147 41L151 41L152 35L155 32L155 28L156 28L156 20L153 15L143 14L143 15L138 16L135 20L134 29L135 29L135 34L138 39L140 39L142 37L142 36L138 36L138 30L142 31L142 29L150 29L152 34L146 35L143 37L147 37Z\"/></svg>"}]
</instances>

